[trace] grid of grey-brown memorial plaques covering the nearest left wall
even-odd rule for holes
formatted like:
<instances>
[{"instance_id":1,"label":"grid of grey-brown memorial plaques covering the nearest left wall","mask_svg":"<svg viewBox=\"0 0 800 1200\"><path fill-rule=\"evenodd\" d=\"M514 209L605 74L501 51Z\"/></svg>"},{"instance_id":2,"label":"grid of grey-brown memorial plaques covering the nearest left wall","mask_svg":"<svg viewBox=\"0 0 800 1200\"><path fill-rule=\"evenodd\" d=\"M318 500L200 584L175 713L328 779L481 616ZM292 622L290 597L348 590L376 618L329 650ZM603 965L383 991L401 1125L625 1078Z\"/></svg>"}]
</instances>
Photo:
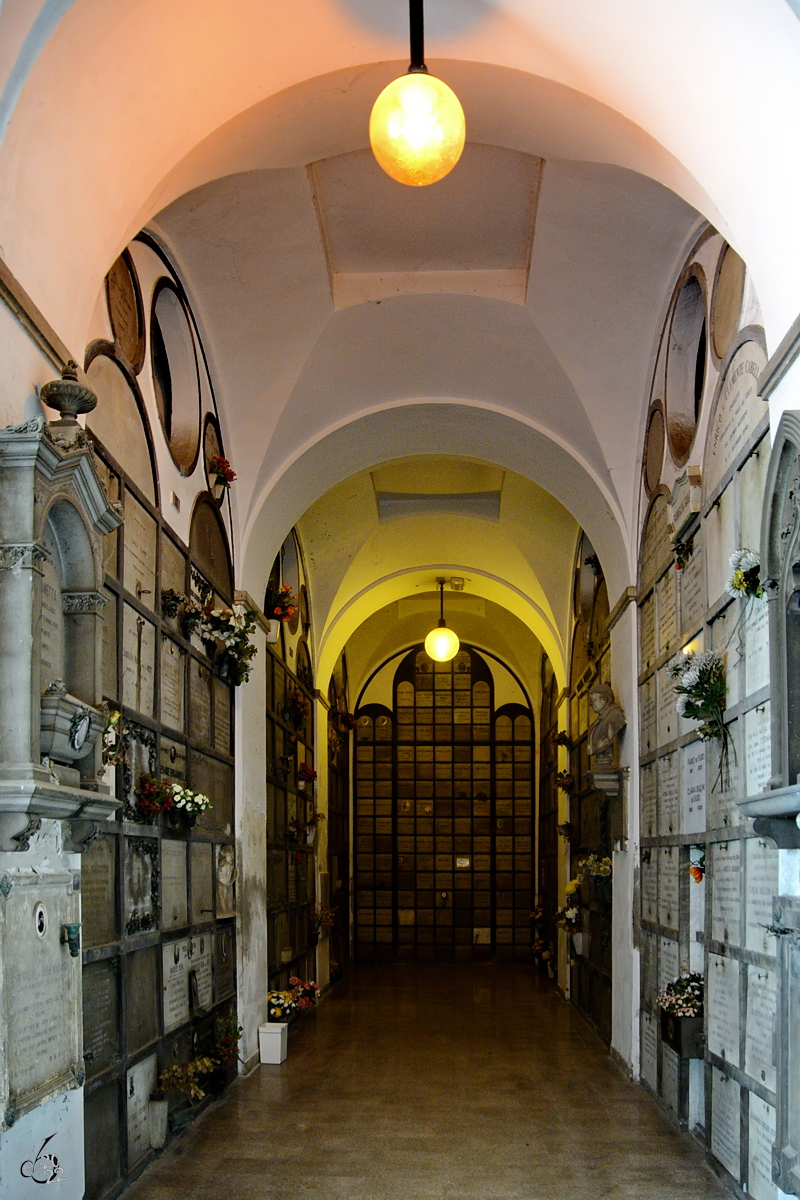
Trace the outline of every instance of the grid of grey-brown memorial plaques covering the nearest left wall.
<instances>
[{"instance_id":1,"label":"grid of grey-brown memorial plaques covering the nearest left wall","mask_svg":"<svg viewBox=\"0 0 800 1200\"><path fill-rule=\"evenodd\" d=\"M106 782L124 808L82 860L86 1200L152 1153L158 1072L211 1050L236 983L233 889L228 908L217 887L233 842L231 690L161 604L167 588L230 602L224 532L216 509L204 512L186 547L162 523L155 481L145 494L102 446L97 462L125 516L106 542L103 614L103 694L124 731ZM212 808L191 830L148 823L133 792L142 772L185 781Z\"/></svg>"}]
</instances>

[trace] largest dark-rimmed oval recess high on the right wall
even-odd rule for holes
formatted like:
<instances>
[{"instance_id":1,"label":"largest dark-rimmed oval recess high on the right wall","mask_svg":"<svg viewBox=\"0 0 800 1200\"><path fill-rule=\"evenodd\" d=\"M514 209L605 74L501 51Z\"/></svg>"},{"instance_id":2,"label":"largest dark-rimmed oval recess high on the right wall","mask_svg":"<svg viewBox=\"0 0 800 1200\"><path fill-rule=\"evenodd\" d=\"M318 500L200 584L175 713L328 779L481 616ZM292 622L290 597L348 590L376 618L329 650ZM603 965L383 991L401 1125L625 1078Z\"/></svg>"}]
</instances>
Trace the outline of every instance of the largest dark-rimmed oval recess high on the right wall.
<instances>
[{"instance_id":1,"label":"largest dark-rimmed oval recess high on the right wall","mask_svg":"<svg viewBox=\"0 0 800 1200\"><path fill-rule=\"evenodd\" d=\"M667 346L667 437L678 467L688 458L694 440L706 355L705 281L694 265L679 284Z\"/></svg>"}]
</instances>

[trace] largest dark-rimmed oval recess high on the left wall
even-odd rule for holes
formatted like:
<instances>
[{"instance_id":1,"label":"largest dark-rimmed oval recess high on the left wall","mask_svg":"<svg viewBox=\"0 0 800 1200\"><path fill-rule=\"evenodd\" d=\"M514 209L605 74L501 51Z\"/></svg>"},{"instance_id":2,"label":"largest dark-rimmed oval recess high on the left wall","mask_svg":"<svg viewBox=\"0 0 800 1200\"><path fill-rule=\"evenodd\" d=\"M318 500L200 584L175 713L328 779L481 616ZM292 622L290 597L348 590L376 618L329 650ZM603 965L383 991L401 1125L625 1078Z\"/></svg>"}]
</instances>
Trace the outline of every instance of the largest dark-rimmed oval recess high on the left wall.
<instances>
[{"instance_id":1,"label":"largest dark-rimmed oval recess high on the left wall","mask_svg":"<svg viewBox=\"0 0 800 1200\"><path fill-rule=\"evenodd\" d=\"M200 378L190 316L172 280L160 280L150 314L158 416L173 462L191 475L200 448Z\"/></svg>"}]
</instances>

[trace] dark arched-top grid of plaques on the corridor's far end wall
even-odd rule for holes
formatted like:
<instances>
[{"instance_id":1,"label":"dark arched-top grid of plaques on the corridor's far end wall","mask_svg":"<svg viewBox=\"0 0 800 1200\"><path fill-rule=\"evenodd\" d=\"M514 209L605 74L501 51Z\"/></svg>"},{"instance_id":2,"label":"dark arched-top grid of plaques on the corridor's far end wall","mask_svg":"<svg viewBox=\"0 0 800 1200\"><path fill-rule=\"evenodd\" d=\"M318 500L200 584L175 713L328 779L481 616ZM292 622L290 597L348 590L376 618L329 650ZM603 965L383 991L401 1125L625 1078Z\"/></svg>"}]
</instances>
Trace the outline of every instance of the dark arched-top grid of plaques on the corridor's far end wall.
<instances>
[{"instance_id":1,"label":"dark arched-top grid of plaques on the corridor's far end wall","mask_svg":"<svg viewBox=\"0 0 800 1200\"><path fill-rule=\"evenodd\" d=\"M413 650L393 713L357 715L359 958L528 960L530 713L495 714L486 661L462 648Z\"/></svg>"}]
</instances>

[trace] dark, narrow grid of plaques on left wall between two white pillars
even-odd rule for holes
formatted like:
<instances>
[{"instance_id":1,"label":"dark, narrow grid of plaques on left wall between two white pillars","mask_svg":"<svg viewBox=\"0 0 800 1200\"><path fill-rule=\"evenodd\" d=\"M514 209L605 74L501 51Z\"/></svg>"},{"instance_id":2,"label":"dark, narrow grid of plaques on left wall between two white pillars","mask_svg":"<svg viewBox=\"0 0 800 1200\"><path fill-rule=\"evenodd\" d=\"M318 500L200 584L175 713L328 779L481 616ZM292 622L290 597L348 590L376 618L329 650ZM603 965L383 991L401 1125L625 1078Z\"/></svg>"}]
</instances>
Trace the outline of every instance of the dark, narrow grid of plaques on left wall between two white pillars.
<instances>
[{"instance_id":1,"label":"dark, narrow grid of plaques on left wall between two white pillars","mask_svg":"<svg viewBox=\"0 0 800 1200\"><path fill-rule=\"evenodd\" d=\"M266 881L267 964L271 990L289 986L289 976L317 978L313 937L314 847L306 823L314 811L311 792L297 786L301 763L314 766L312 696L279 656L266 647ZM309 716L296 731L285 719L287 691L308 701Z\"/></svg>"}]
</instances>

